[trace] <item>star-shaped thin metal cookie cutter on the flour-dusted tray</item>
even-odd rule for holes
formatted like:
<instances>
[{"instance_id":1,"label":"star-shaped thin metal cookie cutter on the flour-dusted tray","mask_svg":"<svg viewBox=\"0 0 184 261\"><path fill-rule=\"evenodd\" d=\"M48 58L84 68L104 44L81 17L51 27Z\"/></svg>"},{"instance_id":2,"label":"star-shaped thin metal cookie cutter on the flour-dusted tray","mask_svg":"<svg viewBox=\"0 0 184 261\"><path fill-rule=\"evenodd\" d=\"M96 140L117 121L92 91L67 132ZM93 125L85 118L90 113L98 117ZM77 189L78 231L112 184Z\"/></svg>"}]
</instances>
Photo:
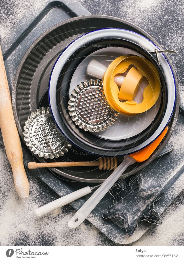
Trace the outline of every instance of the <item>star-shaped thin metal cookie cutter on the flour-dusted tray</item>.
<instances>
[{"instance_id":1,"label":"star-shaped thin metal cookie cutter on the flour-dusted tray","mask_svg":"<svg viewBox=\"0 0 184 261\"><path fill-rule=\"evenodd\" d=\"M118 181L110 190L113 204L102 217L111 219L119 227L125 228L129 236L133 235L138 223L145 220L160 224L159 214L154 210L154 203L165 193L164 188L144 188L140 175Z\"/></svg>"}]
</instances>

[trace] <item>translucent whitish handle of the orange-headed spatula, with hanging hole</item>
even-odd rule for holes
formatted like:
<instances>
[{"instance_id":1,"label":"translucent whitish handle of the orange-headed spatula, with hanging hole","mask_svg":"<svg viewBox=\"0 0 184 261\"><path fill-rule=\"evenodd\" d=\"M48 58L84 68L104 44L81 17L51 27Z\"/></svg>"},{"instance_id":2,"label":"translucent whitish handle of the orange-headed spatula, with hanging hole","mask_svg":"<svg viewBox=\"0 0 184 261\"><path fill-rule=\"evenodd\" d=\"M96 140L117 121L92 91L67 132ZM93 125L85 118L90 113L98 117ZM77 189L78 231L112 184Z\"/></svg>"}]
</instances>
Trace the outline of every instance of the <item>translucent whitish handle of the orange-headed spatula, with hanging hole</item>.
<instances>
[{"instance_id":1,"label":"translucent whitish handle of the orange-headed spatula, with hanging hole","mask_svg":"<svg viewBox=\"0 0 184 261\"><path fill-rule=\"evenodd\" d=\"M83 204L83 206L69 220L68 226L71 228L78 227L91 211L98 205L100 200L105 196L113 184L119 179L122 173L129 165L136 161L131 156L125 156L123 162L115 171L104 181L104 183L94 192L94 194Z\"/></svg>"}]
</instances>

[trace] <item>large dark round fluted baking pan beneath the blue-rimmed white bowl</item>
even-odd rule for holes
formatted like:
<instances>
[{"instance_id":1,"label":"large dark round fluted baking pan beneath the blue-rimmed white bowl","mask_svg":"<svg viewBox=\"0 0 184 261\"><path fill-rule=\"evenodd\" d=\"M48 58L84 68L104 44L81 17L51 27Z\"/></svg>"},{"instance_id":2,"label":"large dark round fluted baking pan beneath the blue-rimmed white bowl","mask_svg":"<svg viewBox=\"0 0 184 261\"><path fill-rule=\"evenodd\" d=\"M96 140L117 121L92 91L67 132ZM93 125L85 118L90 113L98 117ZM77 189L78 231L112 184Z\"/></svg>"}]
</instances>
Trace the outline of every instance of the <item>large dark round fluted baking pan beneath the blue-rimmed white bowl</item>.
<instances>
[{"instance_id":1,"label":"large dark round fluted baking pan beneath the blue-rimmed white bowl","mask_svg":"<svg viewBox=\"0 0 184 261\"><path fill-rule=\"evenodd\" d=\"M25 53L17 70L14 79L14 89L12 94L13 113L17 124L17 128L22 139L24 139L23 127L30 113L36 111L36 109L38 109L39 107L48 106L47 89L49 77L52 71L52 67L55 64L62 50L66 48L69 43L78 38L80 35L85 34L86 32L97 30L100 28L112 27L122 28L139 33L144 37L149 38L159 47L159 44L155 42L155 40L151 38L151 36L149 36L139 27L134 26L133 24L119 18L102 15L87 15L83 17L81 16L80 19L76 17L61 22L49 29L48 31L46 31L30 46L30 48ZM177 82L176 89L176 106L172 119L170 121L170 129L167 133L166 138L164 139L164 142L162 143L162 146L160 146L157 153L159 153L167 144L167 141L169 140L171 133L174 130L174 126L177 122L179 111L179 92ZM58 160L68 161L81 159L97 159L97 156L94 156L92 154L85 154L85 152L80 151L78 148L74 146L72 150L66 153L66 156L61 157ZM40 162L44 161L42 158L39 157L37 157L37 159ZM141 170L142 168L146 167L147 164L152 160L153 158L151 157L141 164L135 164L131 166L127 169L126 174L133 174ZM98 169L95 169L94 171L94 168L90 167L66 169L55 168L52 169L52 171L70 180L92 183L103 182L105 178L109 176L109 174L111 173L111 171L106 172L100 171Z\"/></svg>"}]
</instances>

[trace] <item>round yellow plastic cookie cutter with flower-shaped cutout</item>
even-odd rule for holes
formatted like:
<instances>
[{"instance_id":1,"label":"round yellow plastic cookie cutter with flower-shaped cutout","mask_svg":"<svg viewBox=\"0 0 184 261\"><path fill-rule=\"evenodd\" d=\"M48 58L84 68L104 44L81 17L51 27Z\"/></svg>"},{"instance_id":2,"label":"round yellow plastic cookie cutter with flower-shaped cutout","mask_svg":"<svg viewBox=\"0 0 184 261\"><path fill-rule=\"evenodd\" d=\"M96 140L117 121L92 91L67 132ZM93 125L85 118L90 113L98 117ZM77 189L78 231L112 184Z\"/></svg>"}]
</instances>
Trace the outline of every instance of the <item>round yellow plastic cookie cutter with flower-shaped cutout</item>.
<instances>
[{"instance_id":1,"label":"round yellow plastic cookie cutter with flower-shaped cutout","mask_svg":"<svg viewBox=\"0 0 184 261\"><path fill-rule=\"evenodd\" d=\"M116 74L125 73L130 65L133 67L128 71L119 90L114 77ZM143 91L143 101L137 103L133 99L143 77L146 77L148 85ZM136 115L147 111L155 104L161 85L159 73L150 61L144 57L123 55L112 61L105 71L103 88L105 97L114 110L126 115Z\"/></svg>"}]
</instances>

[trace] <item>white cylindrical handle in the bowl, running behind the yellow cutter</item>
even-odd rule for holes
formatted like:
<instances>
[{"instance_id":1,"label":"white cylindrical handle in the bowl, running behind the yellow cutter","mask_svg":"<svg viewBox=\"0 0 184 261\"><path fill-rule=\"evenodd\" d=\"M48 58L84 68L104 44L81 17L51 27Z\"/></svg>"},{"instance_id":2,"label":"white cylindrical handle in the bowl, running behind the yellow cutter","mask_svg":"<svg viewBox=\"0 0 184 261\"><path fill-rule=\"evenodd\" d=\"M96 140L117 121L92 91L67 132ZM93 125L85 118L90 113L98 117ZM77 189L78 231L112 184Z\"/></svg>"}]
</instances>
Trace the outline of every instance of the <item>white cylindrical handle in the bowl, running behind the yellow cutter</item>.
<instances>
[{"instance_id":1,"label":"white cylindrical handle in the bowl, running behind the yellow cutter","mask_svg":"<svg viewBox=\"0 0 184 261\"><path fill-rule=\"evenodd\" d=\"M102 63L96 61L96 60L91 60L87 66L86 73L89 76L92 76L94 78L98 79L103 79L103 75L106 71L107 67L103 65ZM125 77L123 75L117 75L114 77L114 82L121 86Z\"/></svg>"}]
</instances>

